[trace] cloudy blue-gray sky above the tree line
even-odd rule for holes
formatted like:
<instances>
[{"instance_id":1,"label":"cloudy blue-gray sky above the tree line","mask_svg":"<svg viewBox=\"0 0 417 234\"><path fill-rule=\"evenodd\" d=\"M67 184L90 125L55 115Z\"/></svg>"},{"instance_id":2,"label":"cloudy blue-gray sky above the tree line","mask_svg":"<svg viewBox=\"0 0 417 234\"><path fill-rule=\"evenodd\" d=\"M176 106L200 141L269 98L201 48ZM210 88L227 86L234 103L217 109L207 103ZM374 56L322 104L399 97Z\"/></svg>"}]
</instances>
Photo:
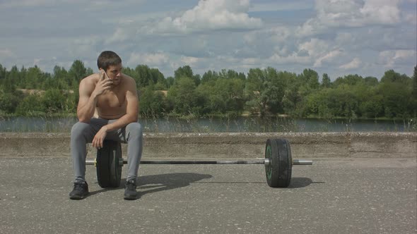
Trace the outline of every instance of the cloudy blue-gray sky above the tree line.
<instances>
[{"instance_id":1,"label":"cloudy blue-gray sky above the tree line","mask_svg":"<svg viewBox=\"0 0 417 234\"><path fill-rule=\"evenodd\" d=\"M380 79L413 74L416 28L417 0L0 0L0 64L96 71L111 50L165 78L188 65Z\"/></svg>"}]
</instances>

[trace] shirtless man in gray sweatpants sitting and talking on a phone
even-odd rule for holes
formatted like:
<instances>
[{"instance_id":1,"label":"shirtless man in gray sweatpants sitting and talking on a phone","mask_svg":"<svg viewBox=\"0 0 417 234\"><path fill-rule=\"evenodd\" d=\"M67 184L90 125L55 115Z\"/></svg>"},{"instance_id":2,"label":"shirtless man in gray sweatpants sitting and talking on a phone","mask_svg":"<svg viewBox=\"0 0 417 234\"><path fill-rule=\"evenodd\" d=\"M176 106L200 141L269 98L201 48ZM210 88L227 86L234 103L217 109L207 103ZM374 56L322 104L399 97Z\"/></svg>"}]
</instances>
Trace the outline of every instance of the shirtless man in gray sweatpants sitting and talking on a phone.
<instances>
[{"instance_id":1,"label":"shirtless man in gray sweatpants sitting and talking on a phone","mask_svg":"<svg viewBox=\"0 0 417 234\"><path fill-rule=\"evenodd\" d=\"M122 73L122 59L113 51L103 51L97 60L99 73L80 82L78 123L71 129L71 156L74 163L74 190L70 199L88 195L86 144L100 149L103 141L127 143L127 179L124 199L136 199L136 178L142 154L142 128L138 121L139 100L136 82Z\"/></svg>"}]
</instances>

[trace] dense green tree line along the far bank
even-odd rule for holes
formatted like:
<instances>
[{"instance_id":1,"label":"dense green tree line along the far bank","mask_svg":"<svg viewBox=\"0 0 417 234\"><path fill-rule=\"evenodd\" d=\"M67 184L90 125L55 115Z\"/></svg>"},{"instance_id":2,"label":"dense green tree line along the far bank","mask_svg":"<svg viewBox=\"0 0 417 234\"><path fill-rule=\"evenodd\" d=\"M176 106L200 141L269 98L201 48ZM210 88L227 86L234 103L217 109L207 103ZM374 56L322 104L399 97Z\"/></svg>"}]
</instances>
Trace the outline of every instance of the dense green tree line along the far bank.
<instances>
[{"instance_id":1,"label":"dense green tree line along the far bank","mask_svg":"<svg viewBox=\"0 0 417 234\"><path fill-rule=\"evenodd\" d=\"M44 116L76 113L78 84L93 73L82 61L7 70L0 64L0 115ZM300 118L416 118L417 66L413 76L385 71L382 78L345 75L331 81L312 69L290 73L252 68L194 74L190 66L165 78L158 68L138 65L123 73L136 80L141 116L276 116ZM29 92L28 90L37 90Z\"/></svg>"}]
</instances>

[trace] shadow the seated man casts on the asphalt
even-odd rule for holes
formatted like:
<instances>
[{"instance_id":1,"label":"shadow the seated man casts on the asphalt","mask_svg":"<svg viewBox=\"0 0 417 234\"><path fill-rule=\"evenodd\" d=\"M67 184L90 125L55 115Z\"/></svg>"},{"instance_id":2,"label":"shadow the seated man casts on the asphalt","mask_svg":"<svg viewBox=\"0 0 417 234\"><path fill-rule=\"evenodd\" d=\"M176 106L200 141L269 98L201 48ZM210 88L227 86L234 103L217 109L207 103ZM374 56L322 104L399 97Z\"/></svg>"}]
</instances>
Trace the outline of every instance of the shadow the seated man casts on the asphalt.
<instances>
[{"instance_id":1,"label":"shadow the seated man casts on the asphalt","mask_svg":"<svg viewBox=\"0 0 417 234\"><path fill-rule=\"evenodd\" d=\"M160 192L164 190L172 190L178 187L185 187L191 183L196 183L196 181L209 179L212 177L213 176L208 174L198 173L168 173L151 176L139 176L137 189L139 190L139 195L143 196L152 192ZM88 197L96 195L100 192L124 189L124 183L126 183L126 178L120 181L119 187L103 188L101 190L93 191L90 192Z\"/></svg>"}]
</instances>

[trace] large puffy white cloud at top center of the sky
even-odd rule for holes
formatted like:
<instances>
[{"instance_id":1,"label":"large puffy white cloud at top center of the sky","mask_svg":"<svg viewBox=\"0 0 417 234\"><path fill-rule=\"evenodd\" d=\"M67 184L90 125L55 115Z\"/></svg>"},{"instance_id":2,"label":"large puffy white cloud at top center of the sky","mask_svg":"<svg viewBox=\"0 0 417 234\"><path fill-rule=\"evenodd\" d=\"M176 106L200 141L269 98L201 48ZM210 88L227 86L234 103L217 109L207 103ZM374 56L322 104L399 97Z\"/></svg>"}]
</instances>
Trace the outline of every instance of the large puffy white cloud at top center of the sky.
<instances>
[{"instance_id":1,"label":"large puffy white cloud at top center of the sky","mask_svg":"<svg viewBox=\"0 0 417 234\"><path fill-rule=\"evenodd\" d=\"M200 0L177 18L166 17L148 27L148 32L201 32L206 30L247 30L262 27L262 20L248 16L249 0Z\"/></svg>"}]
</instances>

